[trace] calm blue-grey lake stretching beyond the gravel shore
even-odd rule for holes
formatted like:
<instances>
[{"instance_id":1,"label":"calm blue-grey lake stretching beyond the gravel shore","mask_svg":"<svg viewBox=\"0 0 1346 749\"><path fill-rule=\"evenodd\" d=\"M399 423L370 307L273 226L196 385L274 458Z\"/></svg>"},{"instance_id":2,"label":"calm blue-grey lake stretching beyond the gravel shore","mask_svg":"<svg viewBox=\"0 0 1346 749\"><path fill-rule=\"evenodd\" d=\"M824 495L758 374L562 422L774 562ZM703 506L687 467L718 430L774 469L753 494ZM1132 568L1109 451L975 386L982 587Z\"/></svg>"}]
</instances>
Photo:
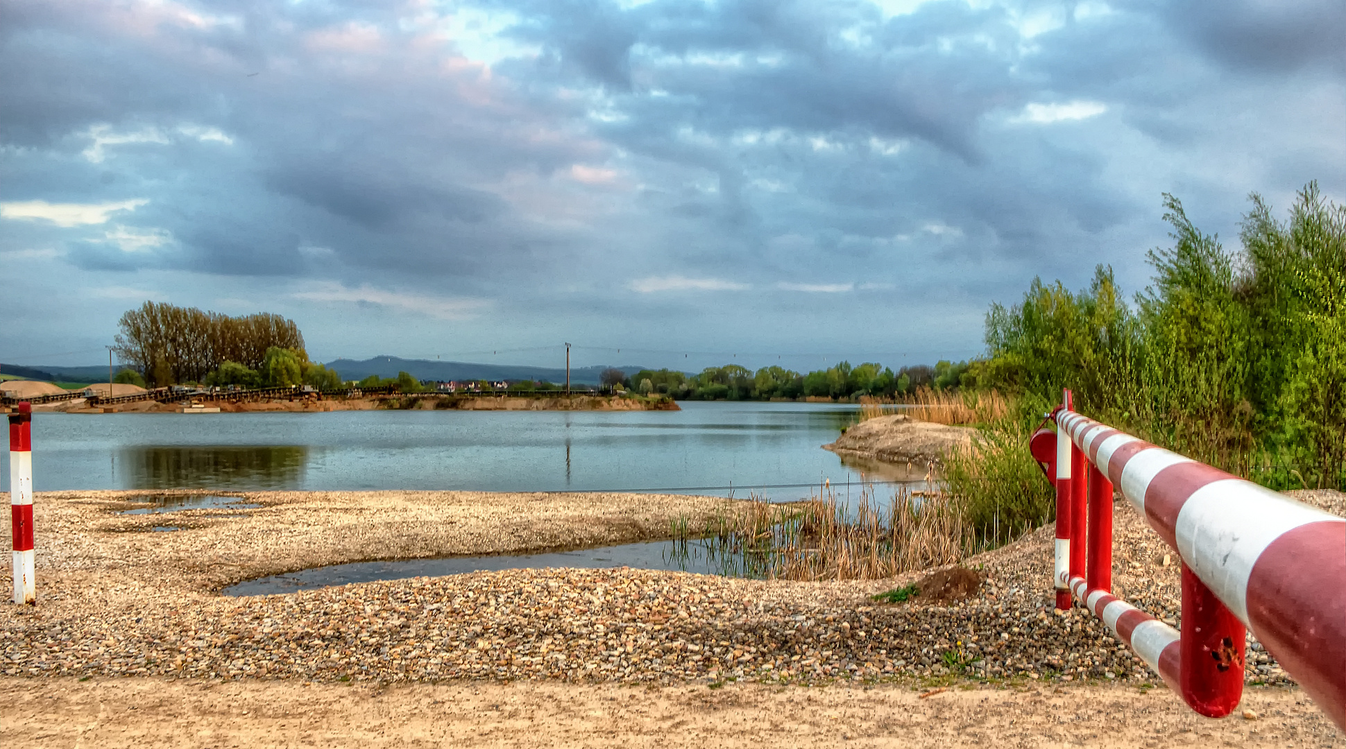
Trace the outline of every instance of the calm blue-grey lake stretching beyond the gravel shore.
<instances>
[{"instance_id":1,"label":"calm blue-grey lake stretching beyond the gravel shore","mask_svg":"<svg viewBox=\"0 0 1346 749\"><path fill-rule=\"evenodd\" d=\"M39 413L32 420L34 488L725 496L732 487L734 496L756 491L791 500L808 496L808 487L824 479L861 480L859 468L843 465L820 446L857 418L857 406L680 406L681 411ZM8 487L8 461L0 465Z\"/></svg>"}]
</instances>

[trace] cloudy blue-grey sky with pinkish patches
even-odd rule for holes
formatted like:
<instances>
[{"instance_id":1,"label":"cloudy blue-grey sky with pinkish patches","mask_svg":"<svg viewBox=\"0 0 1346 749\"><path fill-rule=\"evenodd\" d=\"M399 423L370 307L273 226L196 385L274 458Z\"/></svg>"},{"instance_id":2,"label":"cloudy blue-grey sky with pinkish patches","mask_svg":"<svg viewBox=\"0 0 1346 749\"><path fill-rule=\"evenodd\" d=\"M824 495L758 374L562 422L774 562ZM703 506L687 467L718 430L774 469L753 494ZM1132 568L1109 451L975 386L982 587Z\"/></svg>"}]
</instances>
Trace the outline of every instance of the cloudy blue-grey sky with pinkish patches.
<instances>
[{"instance_id":1,"label":"cloudy blue-grey sky with pinkish patches","mask_svg":"<svg viewBox=\"0 0 1346 749\"><path fill-rule=\"evenodd\" d=\"M0 360L147 299L322 360L972 356L1034 276L1139 290L1163 192L1341 202L1343 8L0 0Z\"/></svg>"}]
</instances>

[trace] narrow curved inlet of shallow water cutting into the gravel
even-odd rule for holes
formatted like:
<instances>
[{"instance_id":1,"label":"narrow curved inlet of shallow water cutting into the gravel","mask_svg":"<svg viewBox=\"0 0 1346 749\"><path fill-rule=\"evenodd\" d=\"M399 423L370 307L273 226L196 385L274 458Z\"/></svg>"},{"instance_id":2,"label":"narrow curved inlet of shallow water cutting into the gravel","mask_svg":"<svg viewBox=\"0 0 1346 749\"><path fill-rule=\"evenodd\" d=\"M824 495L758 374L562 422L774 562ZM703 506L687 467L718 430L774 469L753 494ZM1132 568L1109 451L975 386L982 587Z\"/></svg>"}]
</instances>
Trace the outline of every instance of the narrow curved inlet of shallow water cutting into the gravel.
<instances>
[{"instance_id":1,"label":"narrow curved inlet of shallow water cutting into the gravel","mask_svg":"<svg viewBox=\"0 0 1346 749\"><path fill-rule=\"evenodd\" d=\"M723 557L700 542L656 541L604 546L577 551L548 554L514 554L495 557L440 557L433 559L401 559L390 562L354 562L312 567L285 574L249 580L225 588L225 596L265 596L314 590L351 582L376 580L402 580L408 577L443 577L472 571L516 569L611 569L635 567L641 570L674 570L731 577L760 577L746 567L742 557Z\"/></svg>"}]
</instances>

